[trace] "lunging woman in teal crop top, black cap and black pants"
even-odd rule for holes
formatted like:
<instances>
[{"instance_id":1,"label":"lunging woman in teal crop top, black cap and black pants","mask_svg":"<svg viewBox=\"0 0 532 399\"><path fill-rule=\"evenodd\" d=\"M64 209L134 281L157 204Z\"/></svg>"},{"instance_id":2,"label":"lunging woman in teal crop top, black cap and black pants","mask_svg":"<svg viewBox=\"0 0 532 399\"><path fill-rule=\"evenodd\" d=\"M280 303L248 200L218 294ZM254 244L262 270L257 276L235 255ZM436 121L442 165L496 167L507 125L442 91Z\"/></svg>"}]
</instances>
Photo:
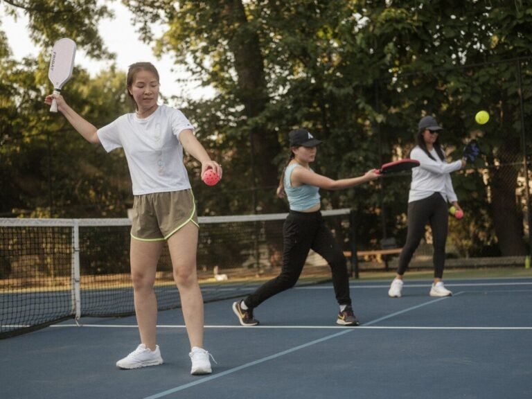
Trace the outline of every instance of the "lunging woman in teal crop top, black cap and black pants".
<instances>
[{"instance_id":1,"label":"lunging woman in teal crop top, black cap and black pants","mask_svg":"<svg viewBox=\"0 0 532 399\"><path fill-rule=\"evenodd\" d=\"M340 308L336 322L343 326L358 326L360 323L351 306L346 258L321 217L319 189L351 188L378 179L380 175L375 169L348 179L334 180L319 175L310 168L310 163L316 159L317 145L321 141L314 139L305 129L292 130L289 137L290 160L277 188L277 195L287 197L290 204L290 213L283 225L281 274L242 301L233 303L233 312L242 326L256 326L258 320L254 319L254 308L297 283L312 249L327 261L332 272L332 285Z\"/></svg>"}]
</instances>

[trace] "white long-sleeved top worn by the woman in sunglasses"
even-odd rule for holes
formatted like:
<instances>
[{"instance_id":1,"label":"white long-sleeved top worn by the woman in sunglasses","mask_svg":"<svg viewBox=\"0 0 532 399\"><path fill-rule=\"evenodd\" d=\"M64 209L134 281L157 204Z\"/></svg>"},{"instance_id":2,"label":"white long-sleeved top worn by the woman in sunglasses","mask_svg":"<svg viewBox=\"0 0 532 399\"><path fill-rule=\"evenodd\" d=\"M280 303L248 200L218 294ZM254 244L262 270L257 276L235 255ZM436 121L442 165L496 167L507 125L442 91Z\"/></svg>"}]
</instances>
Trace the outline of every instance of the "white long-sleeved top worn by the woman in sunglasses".
<instances>
[{"instance_id":1,"label":"white long-sleeved top worn by the woman in sunglasses","mask_svg":"<svg viewBox=\"0 0 532 399\"><path fill-rule=\"evenodd\" d=\"M433 149L429 152L436 161L430 159L425 151L417 145L410 152L410 158L417 159L420 165L412 169L412 182L410 184L408 202L430 197L434 193L440 193L445 201L457 201L458 198L452 187L450 173L461 169L462 162L447 163L447 161L442 161L438 157L436 150Z\"/></svg>"}]
</instances>

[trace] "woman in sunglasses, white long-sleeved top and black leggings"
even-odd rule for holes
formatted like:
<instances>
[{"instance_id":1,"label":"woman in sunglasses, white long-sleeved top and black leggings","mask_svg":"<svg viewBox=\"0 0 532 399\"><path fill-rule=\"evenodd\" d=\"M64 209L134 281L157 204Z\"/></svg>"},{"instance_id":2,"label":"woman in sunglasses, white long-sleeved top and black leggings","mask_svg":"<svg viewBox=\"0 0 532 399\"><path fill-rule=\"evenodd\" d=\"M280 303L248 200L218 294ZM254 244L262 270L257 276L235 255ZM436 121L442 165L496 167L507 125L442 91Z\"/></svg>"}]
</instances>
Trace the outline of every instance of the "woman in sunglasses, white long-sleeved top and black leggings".
<instances>
[{"instance_id":1,"label":"woman in sunglasses, white long-sleeved top and black leggings","mask_svg":"<svg viewBox=\"0 0 532 399\"><path fill-rule=\"evenodd\" d=\"M388 295L399 298L402 292L402 277L425 235L427 223L432 229L434 246L434 281L430 296L450 296L452 292L443 285L445 267L445 242L449 214L447 202L461 209L454 193L450 173L465 166L465 159L447 163L441 148L439 134L443 130L432 116L421 118L418 124L417 144L410 158L420 162L412 169L412 182L408 198L408 232L402 248L396 278L392 281Z\"/></svg>"}]
</instances>

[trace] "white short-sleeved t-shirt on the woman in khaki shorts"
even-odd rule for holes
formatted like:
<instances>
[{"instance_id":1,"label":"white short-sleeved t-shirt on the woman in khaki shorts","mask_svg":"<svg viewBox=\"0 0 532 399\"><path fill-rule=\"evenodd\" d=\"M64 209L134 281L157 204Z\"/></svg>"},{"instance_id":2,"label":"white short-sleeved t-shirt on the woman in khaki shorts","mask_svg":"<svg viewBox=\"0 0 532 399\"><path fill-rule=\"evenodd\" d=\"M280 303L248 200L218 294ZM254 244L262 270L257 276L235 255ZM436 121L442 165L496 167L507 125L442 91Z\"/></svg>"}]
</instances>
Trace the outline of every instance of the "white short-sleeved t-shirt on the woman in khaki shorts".
<instances>
[{"instance_id":1,"label":"white short-sleeved t-shirt on the woman in khaki shorts","mask_svg":"<svg viewBox=\"0 0 532 399\"><path fill-rule=\"evenodd\" d=\"M159 105L148 118L120 116L98 129L98 137L107 152L124 149L133 194L143 195L190 188L179 142L186 129L194 130L181 111Z\"/></svg>"}]
</instances>

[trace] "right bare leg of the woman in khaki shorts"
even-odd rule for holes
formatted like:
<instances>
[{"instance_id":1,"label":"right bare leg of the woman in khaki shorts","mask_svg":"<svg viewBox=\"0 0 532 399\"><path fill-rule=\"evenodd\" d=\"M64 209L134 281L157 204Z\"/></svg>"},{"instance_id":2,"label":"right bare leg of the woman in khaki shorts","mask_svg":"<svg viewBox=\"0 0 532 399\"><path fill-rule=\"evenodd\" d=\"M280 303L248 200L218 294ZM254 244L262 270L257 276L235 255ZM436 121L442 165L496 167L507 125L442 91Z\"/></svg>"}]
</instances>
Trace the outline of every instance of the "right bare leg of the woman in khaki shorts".
<instances>
[{"instance_id":1,"label":"right bare leg of the woman in khaki shorts","mask_svg":"<svg viewBox=\"0 0 532 399\"><path fill-rule=\"evenodd\" d=\"M168 238L174 280L181 297L190 348L203 348L203 296L196 271L197 236L197 226L188 223Z\"/></svg>"}]
</instances>

